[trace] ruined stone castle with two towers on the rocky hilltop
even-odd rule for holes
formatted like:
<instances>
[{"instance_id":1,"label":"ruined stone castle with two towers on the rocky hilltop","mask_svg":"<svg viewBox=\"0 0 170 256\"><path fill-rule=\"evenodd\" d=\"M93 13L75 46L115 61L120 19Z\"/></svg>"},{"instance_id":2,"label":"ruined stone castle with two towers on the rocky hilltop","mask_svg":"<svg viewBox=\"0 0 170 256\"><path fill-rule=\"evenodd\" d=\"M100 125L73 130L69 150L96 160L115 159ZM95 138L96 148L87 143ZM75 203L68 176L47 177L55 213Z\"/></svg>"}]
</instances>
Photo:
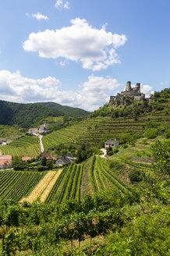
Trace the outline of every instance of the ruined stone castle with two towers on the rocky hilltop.
<instances>
[{"instance_id":1,"label":"ruined stone castle with two towers on the rocky hilltop","mask_svg":"<svg viewBox=\"0 0 170 256\"><path fill-rule=\"evenodd\" d=\"M140 83L137 83L135 87L131 87L131 82L126 83L126 91L118 93L116 96L110 96L109 103L116 107L120 104L131 105L133 101L144 101L145 94L140 92Z\"/></svg>"}]
</instances>

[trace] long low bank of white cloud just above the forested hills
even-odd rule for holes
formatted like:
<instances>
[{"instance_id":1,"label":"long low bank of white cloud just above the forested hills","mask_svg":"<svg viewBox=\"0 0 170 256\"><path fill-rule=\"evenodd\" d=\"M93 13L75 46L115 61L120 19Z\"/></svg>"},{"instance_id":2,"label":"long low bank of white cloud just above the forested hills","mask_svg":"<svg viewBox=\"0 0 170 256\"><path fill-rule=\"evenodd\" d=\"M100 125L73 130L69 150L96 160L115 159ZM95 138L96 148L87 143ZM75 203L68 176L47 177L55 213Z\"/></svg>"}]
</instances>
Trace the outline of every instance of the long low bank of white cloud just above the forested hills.
<instances>
[{"instance_id":1,"label":"long low bank of white cloud just above the forested hills","mask_svg":"<svg viewBox=\"0 0 170 256\"><path fill-rule=\"evenodd\" d=\"M113 78L89 76L79 90L62 90L61 82L55 77L31 79L21 76L19 71L0 71L0 98L14 102L55 101L62 105L84 108L90 111L108 101L107 91L120 84Z\"/></svg>"}]
</instances>

